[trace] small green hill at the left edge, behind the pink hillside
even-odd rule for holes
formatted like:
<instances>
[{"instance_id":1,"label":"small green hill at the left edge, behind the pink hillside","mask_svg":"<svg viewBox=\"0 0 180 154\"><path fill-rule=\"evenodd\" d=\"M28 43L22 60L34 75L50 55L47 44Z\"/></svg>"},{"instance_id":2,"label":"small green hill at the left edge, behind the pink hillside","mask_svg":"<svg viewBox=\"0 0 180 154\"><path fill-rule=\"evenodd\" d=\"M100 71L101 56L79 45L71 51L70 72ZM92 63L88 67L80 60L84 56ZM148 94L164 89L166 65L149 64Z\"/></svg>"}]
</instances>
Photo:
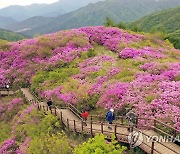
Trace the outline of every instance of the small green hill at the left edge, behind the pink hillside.
<instances>
[{"instance_id":1,"label":"small green hill at the left edge, behind the pink hillside","mask_svg":"<svg viewBox=\"0 0 180 154\"><path fill-rule=\"evenodd\" d=\"M7 40L7 41L19 41L25 39L26 37L4 29L0 29L0 40Z\"/></svg>"}]
</instances>

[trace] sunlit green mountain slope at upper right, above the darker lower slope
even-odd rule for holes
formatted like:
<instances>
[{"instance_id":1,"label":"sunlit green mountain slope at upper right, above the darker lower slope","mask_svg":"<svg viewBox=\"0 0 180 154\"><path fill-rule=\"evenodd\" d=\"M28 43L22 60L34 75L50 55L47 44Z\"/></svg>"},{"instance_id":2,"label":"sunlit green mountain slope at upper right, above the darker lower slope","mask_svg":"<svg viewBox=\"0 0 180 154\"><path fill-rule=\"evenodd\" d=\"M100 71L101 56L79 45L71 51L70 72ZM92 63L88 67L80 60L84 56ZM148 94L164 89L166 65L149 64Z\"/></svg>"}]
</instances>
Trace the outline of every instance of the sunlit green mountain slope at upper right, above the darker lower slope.
<instances>
[{"instance_id":1,"label":"sunlit green mountain slope at upper right, above the darker lower slope","mask_svg":"<svg viewBox=\"0 0 180 154\"><path fill-rule=\"evenodd\" d=\"M180 30L180 7L154 13L130 25L137 25L146 32L154 28L163 29L166 33L175 33L177 30Z\"/></svg>"}]
</instances>

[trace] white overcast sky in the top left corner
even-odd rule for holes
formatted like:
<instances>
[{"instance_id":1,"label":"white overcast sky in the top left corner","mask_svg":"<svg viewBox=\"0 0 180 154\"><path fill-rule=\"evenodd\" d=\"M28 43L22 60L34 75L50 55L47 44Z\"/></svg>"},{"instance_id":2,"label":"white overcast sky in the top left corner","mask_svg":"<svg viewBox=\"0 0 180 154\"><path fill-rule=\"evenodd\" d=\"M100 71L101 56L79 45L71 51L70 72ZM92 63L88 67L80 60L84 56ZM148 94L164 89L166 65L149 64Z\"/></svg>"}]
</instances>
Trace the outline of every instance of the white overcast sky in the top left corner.
<instances>
[{"instance_id":1,"label":"white overcast sky in the top left corner","mask_svg":"<svg viewBox=\"0 0 180 154\"><path fill-rule=\"evenodd\" d=\"M33 3L54 3L58 0L0 0L0 8L9 5L29 5Z\"/></svg>"}]
</instances>

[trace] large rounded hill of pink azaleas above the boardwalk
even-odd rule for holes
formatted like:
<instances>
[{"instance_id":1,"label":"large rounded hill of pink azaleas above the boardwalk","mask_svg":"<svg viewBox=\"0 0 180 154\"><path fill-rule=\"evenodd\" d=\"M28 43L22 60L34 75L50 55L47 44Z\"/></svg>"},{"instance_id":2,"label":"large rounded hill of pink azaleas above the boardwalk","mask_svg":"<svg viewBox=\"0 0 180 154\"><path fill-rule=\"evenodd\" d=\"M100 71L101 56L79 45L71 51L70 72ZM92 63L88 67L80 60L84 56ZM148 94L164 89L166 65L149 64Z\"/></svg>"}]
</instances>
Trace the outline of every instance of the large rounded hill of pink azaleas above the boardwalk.
<instances>
[{"instance_id":1,"label":"large rounded hill of pink azaleas above the boardwalk","mask_svg":"<svg viewBox=\"0 0 180 154\"><path fill-rule=\"evenodd\" d=\"M6 83L79 109L134 106L180 130L180 50L148 34L84 27L9 43L0 47Z\"/></svg>"}]
</instances>

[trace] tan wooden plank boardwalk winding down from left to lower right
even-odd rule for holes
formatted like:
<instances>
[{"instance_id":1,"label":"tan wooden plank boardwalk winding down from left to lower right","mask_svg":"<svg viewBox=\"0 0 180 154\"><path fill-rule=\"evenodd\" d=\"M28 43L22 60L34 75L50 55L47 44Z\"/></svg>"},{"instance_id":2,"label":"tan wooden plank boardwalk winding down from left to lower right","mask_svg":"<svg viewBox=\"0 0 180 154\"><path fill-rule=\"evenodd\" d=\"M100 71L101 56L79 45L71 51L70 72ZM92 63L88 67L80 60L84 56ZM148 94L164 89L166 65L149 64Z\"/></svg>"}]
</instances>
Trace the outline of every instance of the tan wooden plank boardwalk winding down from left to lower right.
<instances>
[{"instance_id":1,"label":"tan wooden plank boardwalk winding down from left to lower right","mask_svg":"<svg viewBox=\"0 0 180 154\"><path fill-rule=\"evenodd\" d=\"M34 100L34 96L30 93L29 89L22 88L22 93L26 97L26 99L30 102ZM48 111L46 103L39 102L38 109L44 110L44 112ZM82 119L80 119L79 115L76 114L74 109L72 108L53 108L50 110L52 114L57 115L61 122L66 126L67 129L77 133L90 134L94 136L96 133L103 133L107 136L107 138L111 139L112 133L115 134L116 139L120 142L128 143L128 135L129 131L127 130L128 126L123 125L121 123L115 124L112 126L112 130L108 129L108 125L106 122L100 121L87 121L87 126L83 125ZM148 129L136 129L135 131L141 131L143 134L143 142L139 146L148 154L180 154L180 146L171 142L152 142L147 140L147 136L159 136L153 130Z\"/></svg>"}]
</instances>

